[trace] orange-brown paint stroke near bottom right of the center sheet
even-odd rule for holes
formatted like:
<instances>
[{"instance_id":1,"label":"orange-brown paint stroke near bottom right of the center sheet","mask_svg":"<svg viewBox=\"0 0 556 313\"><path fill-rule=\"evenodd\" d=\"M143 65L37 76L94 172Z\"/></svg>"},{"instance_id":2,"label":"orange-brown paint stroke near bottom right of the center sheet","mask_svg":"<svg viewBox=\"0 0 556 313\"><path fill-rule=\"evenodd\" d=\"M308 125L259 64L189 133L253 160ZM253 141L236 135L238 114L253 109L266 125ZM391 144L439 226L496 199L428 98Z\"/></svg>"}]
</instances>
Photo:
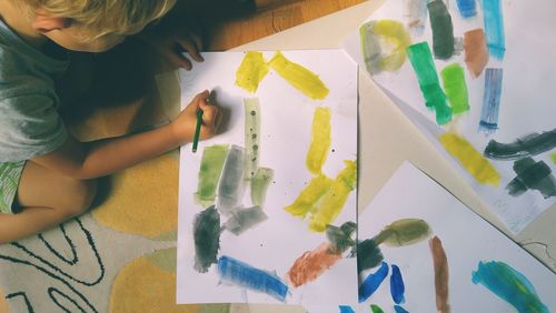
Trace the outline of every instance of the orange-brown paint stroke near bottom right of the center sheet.
<instances>
[{"instance_id":1,"label":"orange-brown paint stroke near bottom right of the center sheet","mask_svg":"<svg viewBox=\"0 0 556 313\"><path fill-rule=\"evenodd\" d=\"M335 246L322 243L312 251L305 252L289 269L288 281L294 287L318 279L326 270L341 260L341 254L335 252Z\"/></svg>"}]
</instances>

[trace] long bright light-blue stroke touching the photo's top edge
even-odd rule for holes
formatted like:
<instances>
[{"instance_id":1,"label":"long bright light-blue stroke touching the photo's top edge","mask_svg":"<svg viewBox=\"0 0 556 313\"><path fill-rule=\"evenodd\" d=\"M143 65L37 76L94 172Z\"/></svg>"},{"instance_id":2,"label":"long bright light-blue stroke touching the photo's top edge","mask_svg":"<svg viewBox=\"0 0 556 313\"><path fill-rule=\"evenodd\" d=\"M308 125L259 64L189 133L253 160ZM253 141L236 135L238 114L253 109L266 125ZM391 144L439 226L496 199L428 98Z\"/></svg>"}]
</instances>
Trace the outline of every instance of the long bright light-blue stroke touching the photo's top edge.
<instances>
[{"instance_id":1,"label":"long bright light-blue stroke touching the photo's top edge","mask_svg":"<svg viewBox=\"0 0 556 313\"><path fill-rule=\"evenodd\" d=\"M506 40L500 0L483 0L483 17L488 52L494 58L503 60L506 52Z\"/></svg>"}]
</instances>

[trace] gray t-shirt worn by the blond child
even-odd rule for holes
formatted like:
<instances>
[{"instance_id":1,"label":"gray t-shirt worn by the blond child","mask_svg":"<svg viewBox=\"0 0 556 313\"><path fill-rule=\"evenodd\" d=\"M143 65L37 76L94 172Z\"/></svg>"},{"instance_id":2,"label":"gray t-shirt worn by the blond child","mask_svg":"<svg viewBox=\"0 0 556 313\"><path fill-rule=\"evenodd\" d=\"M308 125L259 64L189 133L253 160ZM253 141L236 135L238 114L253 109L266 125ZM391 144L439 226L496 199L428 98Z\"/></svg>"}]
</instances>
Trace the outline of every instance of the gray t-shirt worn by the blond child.
<instances>
[{"instance_id":1,"label":"gray t-shirt worn by the blond child","mask_svg":"<svg viewBox=\"0 0 556 313\"><path fill-rule=\"evenodd\" d=\"M54 78L67 67L0 20L0 162L43 155L67 140L54 90Z\"/></svg>"}]
</instances>

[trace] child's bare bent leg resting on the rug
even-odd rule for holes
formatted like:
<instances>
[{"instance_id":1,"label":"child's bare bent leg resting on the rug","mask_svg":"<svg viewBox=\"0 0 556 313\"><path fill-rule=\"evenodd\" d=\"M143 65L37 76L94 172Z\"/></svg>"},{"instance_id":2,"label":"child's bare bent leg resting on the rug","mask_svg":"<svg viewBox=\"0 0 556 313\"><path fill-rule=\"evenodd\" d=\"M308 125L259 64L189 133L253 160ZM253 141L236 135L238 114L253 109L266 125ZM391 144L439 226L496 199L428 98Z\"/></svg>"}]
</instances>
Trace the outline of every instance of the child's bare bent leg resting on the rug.
<instances>
[{"instance_id":1,"label":"child's bare bent leg resting on the rug","mask_svg":"<svg viewBox=\"0 0 556 313\"><path fill-rule=\"evenodd\" d=\"M73 180L28 161L17 195L23 210L0 213L0 243L37 234L86 212L96 191L95 180Z\"/></svg>"}]
</instances>

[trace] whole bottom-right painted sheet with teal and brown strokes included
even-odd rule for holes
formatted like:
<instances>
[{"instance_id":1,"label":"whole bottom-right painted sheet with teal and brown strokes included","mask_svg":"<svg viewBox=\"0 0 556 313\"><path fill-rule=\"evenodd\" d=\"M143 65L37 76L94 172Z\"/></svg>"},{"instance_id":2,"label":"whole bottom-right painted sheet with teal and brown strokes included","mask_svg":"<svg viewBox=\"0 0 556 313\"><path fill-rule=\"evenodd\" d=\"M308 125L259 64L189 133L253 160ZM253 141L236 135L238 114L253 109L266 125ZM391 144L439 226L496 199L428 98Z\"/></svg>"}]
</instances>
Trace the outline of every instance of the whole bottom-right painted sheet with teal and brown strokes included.
<instances>
[{"instance_id":1,"label":"whole bottom-right painted sheet with teal and brown strokes included","mask_svg":"<svg viewBox=\"0 0 556 313\"><path fill-rule=\"evenodd\" d=\"M408 162L359 215L360 260L378 254L361 248L369 240L384 260L361 271L363 302L344 303L341 312L370 312L370 305L384 312L556 310L556 275Z\"/></svg>"}]
</instances>

